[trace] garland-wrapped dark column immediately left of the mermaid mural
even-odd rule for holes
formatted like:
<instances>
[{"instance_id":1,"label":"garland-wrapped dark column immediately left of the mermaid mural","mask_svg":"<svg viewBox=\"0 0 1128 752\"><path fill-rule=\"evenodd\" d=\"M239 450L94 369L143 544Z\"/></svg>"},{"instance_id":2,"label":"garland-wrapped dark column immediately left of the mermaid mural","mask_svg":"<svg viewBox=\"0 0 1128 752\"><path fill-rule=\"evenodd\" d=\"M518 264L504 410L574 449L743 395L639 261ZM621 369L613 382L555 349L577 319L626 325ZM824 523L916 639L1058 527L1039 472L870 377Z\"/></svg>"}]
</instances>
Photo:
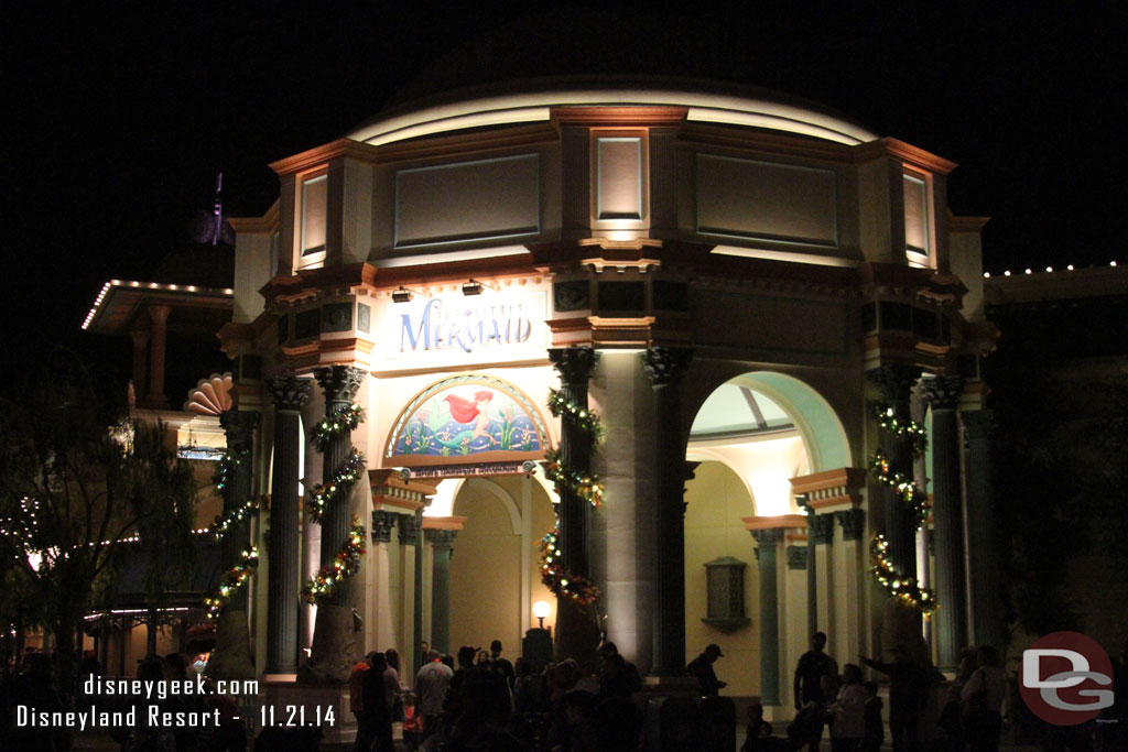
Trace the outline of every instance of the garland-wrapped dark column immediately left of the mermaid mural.
<instances>
[{"instance_id":1,"label":"garland-wrapped dark column immediately left of the mermaid mural","mask_svg":"<svg viewBox=\"0 0 1128 752\"><path fill-rule=\"evenodd\" d=\"M325 415L347 407L360 389L367 372L350 365L314 369L314 378L325 391ZM352 432L333 435L321 452L321 483L328 485L352 454ZM355 490L355 489L354 489ZM344 550L352 527L352 496L326 505L321 514L321 566L333 566ZM302 666L303 683L344 683L358 658L356 630L353 621L352 580L337 585L333 595L317 605L314 643L309 661Z\"/></svg>"}]
</instances>

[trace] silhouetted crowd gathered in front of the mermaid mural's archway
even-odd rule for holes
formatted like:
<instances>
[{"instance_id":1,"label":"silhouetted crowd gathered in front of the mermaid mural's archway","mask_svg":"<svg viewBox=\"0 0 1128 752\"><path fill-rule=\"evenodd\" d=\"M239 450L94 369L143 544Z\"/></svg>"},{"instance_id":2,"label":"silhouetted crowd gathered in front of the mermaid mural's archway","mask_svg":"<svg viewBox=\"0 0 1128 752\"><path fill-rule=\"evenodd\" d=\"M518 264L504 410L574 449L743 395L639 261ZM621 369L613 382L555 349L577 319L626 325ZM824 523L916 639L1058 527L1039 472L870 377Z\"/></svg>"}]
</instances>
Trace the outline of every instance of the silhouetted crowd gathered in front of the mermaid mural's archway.
<instances>
[{"instance_id":1,"label":"silhouetted crowd gathered in front of the mermaid mural's archway","mask_svg":"<svg viewBox=\"0 0 1128 752\"><path fill-rule=\"evenodd\" d=\"M370 653L349 682L353 749L390 752L395 723L403 724L405 746L422 752L638 749L642 713L633 700L642 679L614 643L600 646L593 666L511 662L502 652L499 640L488 651L465 645L455 655L424 644L411 685L395 651Z\"/></svg>"}]
</instances>

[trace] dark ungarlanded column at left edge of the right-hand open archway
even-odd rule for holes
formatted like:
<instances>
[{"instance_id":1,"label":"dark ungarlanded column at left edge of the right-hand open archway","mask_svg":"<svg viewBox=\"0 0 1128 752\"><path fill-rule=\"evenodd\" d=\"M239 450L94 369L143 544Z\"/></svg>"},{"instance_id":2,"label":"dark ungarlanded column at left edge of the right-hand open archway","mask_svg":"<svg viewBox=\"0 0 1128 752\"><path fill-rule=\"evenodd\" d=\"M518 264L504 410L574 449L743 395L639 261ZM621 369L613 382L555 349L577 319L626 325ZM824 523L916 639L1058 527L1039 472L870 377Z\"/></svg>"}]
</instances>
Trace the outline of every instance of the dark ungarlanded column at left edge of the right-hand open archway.
<instances>
[{"instance_id":1,"label":"dark ungarlanded column at left edge of the right-hand open archway","mask_svg":"<svg viewBox=\"0 0 1128 752\"><path fill-rule=\"evenodd\" d=\"M677 676L686 670L686 448L679 383L691 357L691 350L679 347L652 347L642 354L654 391L654 676Z\"/></svg>"}]
</instances>

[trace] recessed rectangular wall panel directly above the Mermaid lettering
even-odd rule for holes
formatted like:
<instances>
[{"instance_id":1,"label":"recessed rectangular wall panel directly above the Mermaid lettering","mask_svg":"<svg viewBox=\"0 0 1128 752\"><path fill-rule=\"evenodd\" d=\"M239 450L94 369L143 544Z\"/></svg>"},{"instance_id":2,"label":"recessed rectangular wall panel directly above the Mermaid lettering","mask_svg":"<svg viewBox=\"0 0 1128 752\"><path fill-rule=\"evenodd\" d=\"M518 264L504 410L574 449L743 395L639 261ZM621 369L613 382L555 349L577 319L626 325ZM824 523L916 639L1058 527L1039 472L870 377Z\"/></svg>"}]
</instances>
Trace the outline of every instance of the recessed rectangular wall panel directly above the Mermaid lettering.
<instances>
[{"instance_id":1,"label":"recessed rectangular wall panel directly above the Mermaid lettering","mask_svg":"<svg viewBox=\"0 0 1128 752\"><path fill-rule=\"evenodd\" d=\"M539 231L539 154L396 172L397 248Z\"/></svg>"}]
</instances>

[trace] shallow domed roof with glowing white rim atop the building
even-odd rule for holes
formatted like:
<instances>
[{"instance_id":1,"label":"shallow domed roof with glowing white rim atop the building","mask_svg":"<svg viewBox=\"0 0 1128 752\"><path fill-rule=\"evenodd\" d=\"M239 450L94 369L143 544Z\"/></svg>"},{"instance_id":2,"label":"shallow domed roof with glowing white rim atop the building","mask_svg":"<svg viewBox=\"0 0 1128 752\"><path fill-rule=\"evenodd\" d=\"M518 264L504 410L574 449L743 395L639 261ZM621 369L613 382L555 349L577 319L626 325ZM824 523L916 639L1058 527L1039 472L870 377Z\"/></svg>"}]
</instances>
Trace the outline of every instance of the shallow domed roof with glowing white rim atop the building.
<instances>
[{"instance_id":1,"label":"shallow domed roof with glowing white rim atop the building","mask_svg":"<svg viewBox=\"0 0 1128 752\"><path fill-rule=\"evenodd\" d=\"M464 129L547 121L549 108L686 107L687 120L856 144L878 136L845 115L756 87L670 77L550 77L448 91L386 109L349 134L371 144Z\"/></svg>"}]
</instances>

